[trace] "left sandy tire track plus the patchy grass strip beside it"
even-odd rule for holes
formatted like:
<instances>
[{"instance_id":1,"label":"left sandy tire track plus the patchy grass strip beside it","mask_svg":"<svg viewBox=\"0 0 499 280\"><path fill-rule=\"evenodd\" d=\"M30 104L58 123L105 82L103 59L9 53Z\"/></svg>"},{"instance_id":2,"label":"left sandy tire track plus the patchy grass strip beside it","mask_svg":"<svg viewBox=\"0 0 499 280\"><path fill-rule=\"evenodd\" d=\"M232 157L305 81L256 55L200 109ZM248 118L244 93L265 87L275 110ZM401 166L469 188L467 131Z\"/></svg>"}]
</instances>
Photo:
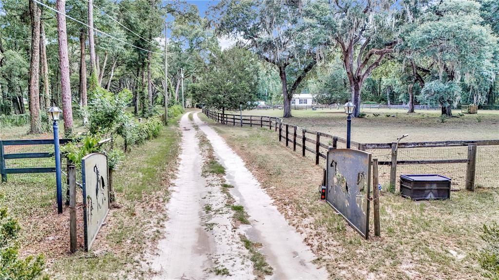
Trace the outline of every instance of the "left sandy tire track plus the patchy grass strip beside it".
<instances>
[{"instance_id":1,"label":"left sandy tire track plus the patchy grass strip beside it","mask_svg":"<svg viewBox=\"0 0 499 280\"><path fill-rule=\"evenodd\" d=\"M220 178L203 175L203 164L209 159L189 114L180 121L180 165L167 204L165 237L152 260L154 279L252 280L250 254L240 241L242 230L234 225ZM221 273L224 269L227 273Z\"/></svg>"}]
</instances>

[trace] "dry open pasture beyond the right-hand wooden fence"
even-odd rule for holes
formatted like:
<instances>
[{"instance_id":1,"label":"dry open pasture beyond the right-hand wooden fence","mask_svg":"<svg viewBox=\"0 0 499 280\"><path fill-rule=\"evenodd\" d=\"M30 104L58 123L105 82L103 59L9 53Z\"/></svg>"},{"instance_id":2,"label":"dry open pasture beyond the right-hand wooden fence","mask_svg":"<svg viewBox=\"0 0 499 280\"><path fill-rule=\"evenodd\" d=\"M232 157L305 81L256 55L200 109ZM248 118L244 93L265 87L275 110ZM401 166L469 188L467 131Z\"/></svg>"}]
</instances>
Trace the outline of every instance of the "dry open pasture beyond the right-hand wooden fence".
<instances>
[{"instance_id":1,"label":"dry open pasture beyond the right-hand wooden fence","mask_svg":"<svg viewBox=\"0 0 499 280\"><path fill-rule=\"evenodd\" d=\"M489 140L499 139L499 111L479 110L479 114L459 118L440 119L440 110L364 109L366 118L352 120L352 140L363 143L394 142L404 134L404 141ZM461 110L454 110L457 116ZM239 111L236 112L239 115ZM233 112L228 113L233 114ZM346 115L343 108L292 110L292 118L284 122L337 135L346 136ZM374 117L373 114L380 114ZM250 110L243 115L282 117L282 110ZM390 115L390 117L386 117ZM391 117L395 116L395 117Z\"/></svg>"}]
</instances>

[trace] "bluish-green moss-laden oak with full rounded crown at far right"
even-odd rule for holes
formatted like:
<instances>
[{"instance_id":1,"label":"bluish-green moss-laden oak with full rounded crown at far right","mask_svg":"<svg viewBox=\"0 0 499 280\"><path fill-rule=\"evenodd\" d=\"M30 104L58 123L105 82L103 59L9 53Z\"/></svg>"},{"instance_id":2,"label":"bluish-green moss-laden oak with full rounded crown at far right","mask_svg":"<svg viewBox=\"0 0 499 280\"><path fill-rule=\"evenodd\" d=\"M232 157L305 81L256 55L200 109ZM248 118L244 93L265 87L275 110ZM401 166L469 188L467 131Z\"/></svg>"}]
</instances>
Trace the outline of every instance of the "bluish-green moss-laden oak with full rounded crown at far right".
<instances>
[{"instance_id":1,"label":"bluish-green moss-laden oak with full rounded crown at far right","mask_svg":"<svg viewBox=\"0 0 499 280\"><path fill-rule=\"evenodd\" d=\"M440 104L447 116L461 100L463 87L474 104L482 103L497 73L493 58L498 38L489 25L480 24L479 11L476 1L438 2L406 38L422 100Z\"/></svg>"}]
</instances>

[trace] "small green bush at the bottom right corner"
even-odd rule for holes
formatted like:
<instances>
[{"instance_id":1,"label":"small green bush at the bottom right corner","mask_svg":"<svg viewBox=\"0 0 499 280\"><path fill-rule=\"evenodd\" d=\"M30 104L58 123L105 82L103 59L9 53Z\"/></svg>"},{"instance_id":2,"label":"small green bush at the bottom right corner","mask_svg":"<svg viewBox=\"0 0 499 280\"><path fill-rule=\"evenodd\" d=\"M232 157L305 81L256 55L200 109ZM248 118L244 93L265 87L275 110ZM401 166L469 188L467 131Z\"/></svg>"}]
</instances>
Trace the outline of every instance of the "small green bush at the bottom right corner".
<instances>
[{"instance_id":1,"label":"small green bush at the bottom right corner","mask_svg":"<svg viewBox=\"0 0 499 280\"><path fill-rule=\"evenodd\" d=\"M485 277L499 280L499 225L497 223L491 226L484 225L481 237L486 246L480 251L478 262L486 271Z\"/></svg>"}]
</instances>

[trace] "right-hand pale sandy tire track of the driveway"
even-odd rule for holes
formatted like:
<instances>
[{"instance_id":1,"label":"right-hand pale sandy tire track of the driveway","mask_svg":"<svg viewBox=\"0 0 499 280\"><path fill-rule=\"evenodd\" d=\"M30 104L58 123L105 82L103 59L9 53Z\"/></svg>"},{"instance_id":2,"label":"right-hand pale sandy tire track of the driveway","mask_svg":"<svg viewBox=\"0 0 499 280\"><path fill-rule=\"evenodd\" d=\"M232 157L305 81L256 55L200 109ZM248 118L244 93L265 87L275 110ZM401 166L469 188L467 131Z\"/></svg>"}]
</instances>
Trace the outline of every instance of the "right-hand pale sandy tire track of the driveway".
<instances>
[{"instance_id":1,"label":"right-hand pale sandy tire track of the driveway","mask_svg":"<svg viewBox=\"0 0 499 280\"><path fill-rule=\"evenodd\" d=\"M267 262L274 269L274 274L266 279L327 279L326 270L318 269L312 263L315 255L304 244L303 237L279 213L273 200L246 168L243 159L199 119L198 113L194 114L195 124L206 134L226 168L225 179L235 186L230 191L232 196L250 215L251 226L246 229L246 235L263 245L261 252L267 256Z\"/></svg>"}]
</instances>

